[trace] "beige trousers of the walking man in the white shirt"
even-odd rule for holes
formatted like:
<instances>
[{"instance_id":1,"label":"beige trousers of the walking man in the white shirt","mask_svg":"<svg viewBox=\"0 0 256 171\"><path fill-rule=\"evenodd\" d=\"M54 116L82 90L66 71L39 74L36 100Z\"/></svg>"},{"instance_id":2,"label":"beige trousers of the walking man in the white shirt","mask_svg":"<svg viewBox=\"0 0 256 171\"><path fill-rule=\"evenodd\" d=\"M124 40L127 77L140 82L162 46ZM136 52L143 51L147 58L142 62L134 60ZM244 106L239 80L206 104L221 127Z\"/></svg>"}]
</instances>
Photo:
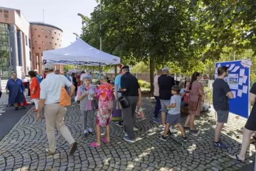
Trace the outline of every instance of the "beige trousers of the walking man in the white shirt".
<instances>
[{"instance_id":1,"label":"beige trousers of the walking man in the white shirt","mask_svg":"<svg viewBox=\"0 0 256 171\"><path fill-rule=\"evenodd\" d=\"M49 104L44 106L46 134L49 143L49 151L51 152L55 152L56 150L55 123L70 145L75 141L64 123L66 110L66 107L60 106L59 104Z\"/></svg>"}]
</instances>

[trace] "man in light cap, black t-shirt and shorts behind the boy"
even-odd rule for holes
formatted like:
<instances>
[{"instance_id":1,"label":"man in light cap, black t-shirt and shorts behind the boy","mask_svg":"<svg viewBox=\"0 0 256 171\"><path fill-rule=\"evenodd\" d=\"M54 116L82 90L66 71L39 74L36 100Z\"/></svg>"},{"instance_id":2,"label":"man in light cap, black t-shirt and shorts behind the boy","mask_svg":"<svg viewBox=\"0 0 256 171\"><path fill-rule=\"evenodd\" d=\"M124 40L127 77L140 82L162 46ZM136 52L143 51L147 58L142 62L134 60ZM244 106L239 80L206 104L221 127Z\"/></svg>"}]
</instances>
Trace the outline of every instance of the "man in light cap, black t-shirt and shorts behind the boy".
<instances>
[{"instance_id":1,"label":"man in light cap, black t-shirt and shorts behind the boy","mask_svg":"<svg viewBox=\"0 0 256 171\"><path fill-rule=\"evenodd\" d=\"M158 78L159 86L159 99L161 102L161 121L162 121L162 130L165 130L165 119L167 106L170 105L170 97L172 97L172 87L175 86L175 81L172 76L169 76L169 69L165 67L163 69L163 74ZM176 133L172 126L170 126L170 132Z\"/></svg>"}]
</instances>

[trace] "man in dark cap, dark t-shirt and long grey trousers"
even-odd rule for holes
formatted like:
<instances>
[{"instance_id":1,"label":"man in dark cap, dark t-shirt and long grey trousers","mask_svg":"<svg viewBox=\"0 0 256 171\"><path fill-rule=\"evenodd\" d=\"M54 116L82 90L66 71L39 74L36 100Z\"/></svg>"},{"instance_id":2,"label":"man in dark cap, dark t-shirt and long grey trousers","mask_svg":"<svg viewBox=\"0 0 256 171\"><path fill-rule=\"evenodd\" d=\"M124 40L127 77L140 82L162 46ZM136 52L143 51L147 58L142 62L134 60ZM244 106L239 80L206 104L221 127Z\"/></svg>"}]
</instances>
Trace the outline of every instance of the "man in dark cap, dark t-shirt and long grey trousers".
<instances>
[{"instance_id":1,"label":"man in dark cap, dark t-shirt and long grey trousers","mask_svg":"<svg viewBox=\"0 0 256 171\"><path fill-rule=\"evenodd\" d=\"M136 106L141 106L141 90L138 80L129 72L129 66L123 66L121 69L121 88L122 96L125 96L129 101L130 106L122 108L124 119L124 140L128 142L135 142L134 131L138 130L133 127L135 124L135 109Z\"/></svg>"}]
</instances>

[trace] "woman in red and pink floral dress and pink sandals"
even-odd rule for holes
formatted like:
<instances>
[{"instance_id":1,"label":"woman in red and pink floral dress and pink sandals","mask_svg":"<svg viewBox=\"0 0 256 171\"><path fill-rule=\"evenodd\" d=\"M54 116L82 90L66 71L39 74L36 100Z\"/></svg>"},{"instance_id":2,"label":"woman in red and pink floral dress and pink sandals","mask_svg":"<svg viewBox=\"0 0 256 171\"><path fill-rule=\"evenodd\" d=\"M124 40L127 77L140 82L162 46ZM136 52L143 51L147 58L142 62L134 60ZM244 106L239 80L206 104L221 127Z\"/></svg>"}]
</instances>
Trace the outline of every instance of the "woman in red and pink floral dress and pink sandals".
<instances>
[{"instance_id":1,"label":"woman in red and pink floral dress and pink sandals","mask_svg":"<svg viewBox=\"0 0 256 171\"><path fill-rule=\"evenodd\" d=\"M99 99L98 113L96 118L97 141L91 143L91 147L100 147L101 126L106 126L107 134L102 141L110 143L110 122L114 109L114 91L110 83L107 82L107 76L104 73L99 74L100 86L97 88L96 98Z\"/></svg>"}]
</instances>

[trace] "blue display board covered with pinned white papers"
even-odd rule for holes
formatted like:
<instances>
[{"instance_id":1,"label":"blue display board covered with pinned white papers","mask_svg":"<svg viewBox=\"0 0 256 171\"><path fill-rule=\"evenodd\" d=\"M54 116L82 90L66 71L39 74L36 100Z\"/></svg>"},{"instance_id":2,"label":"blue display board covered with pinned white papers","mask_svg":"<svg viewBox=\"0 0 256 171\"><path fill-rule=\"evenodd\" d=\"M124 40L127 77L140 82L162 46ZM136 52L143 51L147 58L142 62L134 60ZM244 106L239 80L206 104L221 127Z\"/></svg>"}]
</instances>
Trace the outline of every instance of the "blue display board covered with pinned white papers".
<instances>
[{"instance_id":1,"label":"blue display board covered with pinned white papers","mask_svg":"<svg viewBox=\"0 0 256 171\"><path fill-rule=\"evenodd\" d=\"M227 66L229 74L224 79L234 99L229 99L229 111L236 115L248 118L250 114L249 90L250 90L250 67L243 65L242 61L230 61L215 63L215 78L217 69L220 66Z\"/></svg>"}]
</instances>

